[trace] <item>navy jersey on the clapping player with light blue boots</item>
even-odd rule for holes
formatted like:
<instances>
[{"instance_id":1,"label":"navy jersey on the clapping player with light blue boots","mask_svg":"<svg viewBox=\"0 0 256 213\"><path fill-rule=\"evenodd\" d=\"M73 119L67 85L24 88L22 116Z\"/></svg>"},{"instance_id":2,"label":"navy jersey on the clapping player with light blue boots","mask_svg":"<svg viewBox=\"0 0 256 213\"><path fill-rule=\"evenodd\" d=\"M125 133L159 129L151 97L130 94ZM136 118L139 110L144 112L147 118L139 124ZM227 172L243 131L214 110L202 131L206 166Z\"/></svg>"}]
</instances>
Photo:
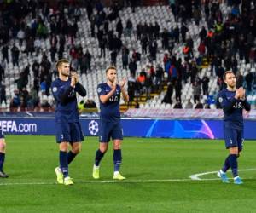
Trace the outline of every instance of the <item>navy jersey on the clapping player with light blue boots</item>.
<instances>
[{"instance_id":1,"label":"navy jersey on the clapping player with light blue boots","mask_svg":"<svg viewBox=\"0 0 256 213\"><path fill-rule=\"evenodd\" d=\"M223 89L218 94L218 102L224 112L224 126L227 128L243 129L242 109L251 109L247 99L236 100L236 91Z\"/></svg>"}]
</instances>

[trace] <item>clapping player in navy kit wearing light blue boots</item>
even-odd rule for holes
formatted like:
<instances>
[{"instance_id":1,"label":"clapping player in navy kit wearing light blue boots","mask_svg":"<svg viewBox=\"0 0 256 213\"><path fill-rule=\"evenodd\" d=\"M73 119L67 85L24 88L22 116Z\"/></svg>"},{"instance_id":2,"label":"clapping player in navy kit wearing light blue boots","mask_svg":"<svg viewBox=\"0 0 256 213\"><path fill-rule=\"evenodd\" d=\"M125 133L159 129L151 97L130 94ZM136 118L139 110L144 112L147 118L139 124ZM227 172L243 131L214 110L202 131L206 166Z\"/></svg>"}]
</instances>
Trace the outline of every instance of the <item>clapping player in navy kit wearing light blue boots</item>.
<instances>
[{"instance_id":1,"label":"clapping player in navy kit wearing light blue boots","mask_svg":"<svg viewBox=\"0 0 256 213\"><path fill-rule=\"evenodd\" d=\"M229 182L226 171L231 168L234 183L242 184L238 176L237 158L242 150L243 145L243 117L242 110L249 111L250 104L245 95L245 89L236 89L236 77L233 72L224 73L224 82L227 88L218 94L218 101L224 111L224 140L226 148L230 150L229 156L225 159L224 166L218 171L218 176L223 182Z\"/></svg>"}]
</instances>

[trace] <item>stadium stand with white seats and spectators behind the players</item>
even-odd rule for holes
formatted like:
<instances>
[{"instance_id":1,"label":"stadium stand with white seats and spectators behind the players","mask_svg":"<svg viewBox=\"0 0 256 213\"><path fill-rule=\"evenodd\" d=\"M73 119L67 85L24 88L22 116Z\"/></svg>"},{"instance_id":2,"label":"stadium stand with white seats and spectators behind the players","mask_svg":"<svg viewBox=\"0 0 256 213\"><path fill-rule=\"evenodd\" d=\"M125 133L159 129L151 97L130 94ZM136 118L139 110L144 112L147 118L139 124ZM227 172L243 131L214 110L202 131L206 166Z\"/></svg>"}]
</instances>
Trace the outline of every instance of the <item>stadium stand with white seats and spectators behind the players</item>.
<instances>
[{"instance_id":1,"label":"stadium stand with white seats and spectators behind the players","mask_svg":"<svg viewBox=\"0 0 256 213\"><path fill-rule=\"evenodd\" d=\"M132 101L123 110L215 108L225 69L236 72L255 105L253 1L30 2L0 3L2 110L53 110L49 85L62 57L96 106L96 85L110 64L129 80Z\"/></svg>"}]
</instances>

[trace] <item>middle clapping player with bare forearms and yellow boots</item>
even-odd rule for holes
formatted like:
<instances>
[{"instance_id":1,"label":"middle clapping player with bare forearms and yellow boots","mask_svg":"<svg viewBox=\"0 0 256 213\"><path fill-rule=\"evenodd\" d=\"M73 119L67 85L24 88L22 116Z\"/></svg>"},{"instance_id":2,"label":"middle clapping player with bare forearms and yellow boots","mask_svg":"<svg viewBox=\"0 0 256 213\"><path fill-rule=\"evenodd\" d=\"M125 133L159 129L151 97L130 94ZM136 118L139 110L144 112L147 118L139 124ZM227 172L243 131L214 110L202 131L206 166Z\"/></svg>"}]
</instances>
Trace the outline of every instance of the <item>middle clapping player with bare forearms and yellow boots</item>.
<instances>
[{"instance_id":1,"label":"middle clapping player with bare forearms and yellow boots","mask_svg":"<svg viewBox=\"0 0 256 213\"><path fill-rule=\"evenodd\" d=\"M125 101L129 101L129 96L125 91L125 80L117 83L117 72L114 66L106 70L107 83L100 83L97 87L97 93L100 99L100 133L99 149L96 151L95 164L93 166L93 178L100 178L100 162L108 150L110 138L113 140L113 164L114 180L124 180L125 177L119 173L122 162L121 143L123 140L123 130L120 123L119 101L120 95L123 95Z\"/></svg>"}]
</instances>

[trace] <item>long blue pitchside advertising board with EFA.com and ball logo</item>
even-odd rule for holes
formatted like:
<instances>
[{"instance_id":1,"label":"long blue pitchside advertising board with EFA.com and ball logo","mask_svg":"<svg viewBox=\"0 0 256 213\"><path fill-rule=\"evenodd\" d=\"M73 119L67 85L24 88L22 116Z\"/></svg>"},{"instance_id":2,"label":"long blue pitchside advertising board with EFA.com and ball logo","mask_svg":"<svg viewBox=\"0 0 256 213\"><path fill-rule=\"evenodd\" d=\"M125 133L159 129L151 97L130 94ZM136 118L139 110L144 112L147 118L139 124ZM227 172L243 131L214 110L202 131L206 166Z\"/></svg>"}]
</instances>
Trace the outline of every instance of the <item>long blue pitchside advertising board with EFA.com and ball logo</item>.
<instances>
[{"instance_id":1,"label":"long blue pitchside advertising board with EFA.com and ball logo","mask_svg":"<svg viewBox=\"0 0 256 213\"><path fill-rule=\"evenodd\" d=\"M85 136L98 135L98 118L81 118ZM222 139L221 119L122 118L127 137ZM6 135L55 135L54 118L0 118ZM245 139L256 139L255 120L245 120Z\"/></svg>"}]
</instances>

